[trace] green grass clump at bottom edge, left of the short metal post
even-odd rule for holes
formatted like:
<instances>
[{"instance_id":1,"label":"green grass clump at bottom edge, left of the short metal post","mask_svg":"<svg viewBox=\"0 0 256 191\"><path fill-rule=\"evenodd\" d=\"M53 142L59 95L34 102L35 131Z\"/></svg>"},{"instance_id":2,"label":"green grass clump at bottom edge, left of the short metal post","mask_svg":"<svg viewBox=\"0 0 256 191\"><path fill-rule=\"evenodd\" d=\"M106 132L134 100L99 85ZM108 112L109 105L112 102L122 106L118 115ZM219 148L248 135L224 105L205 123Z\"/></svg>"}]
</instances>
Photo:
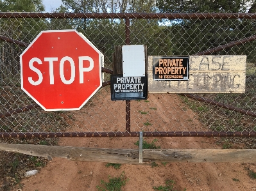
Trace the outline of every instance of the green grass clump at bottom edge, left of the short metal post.
<instances>
[{"instance_id":1,"label":"green grass clump at bottom edge, left of the short metal post","mask_svg":"<svg viewBox=\"0 0 256 191\"><path fill-rule=\"evenodd\" d=\"M126 185L126 183L129 181L124 174L125 173L122 172L121 176L114 178L108 176L108 182L101 180L101 186L97 186L96 188L99 191L121 191L121 187Z\"/></svg>"}]
</instances>

